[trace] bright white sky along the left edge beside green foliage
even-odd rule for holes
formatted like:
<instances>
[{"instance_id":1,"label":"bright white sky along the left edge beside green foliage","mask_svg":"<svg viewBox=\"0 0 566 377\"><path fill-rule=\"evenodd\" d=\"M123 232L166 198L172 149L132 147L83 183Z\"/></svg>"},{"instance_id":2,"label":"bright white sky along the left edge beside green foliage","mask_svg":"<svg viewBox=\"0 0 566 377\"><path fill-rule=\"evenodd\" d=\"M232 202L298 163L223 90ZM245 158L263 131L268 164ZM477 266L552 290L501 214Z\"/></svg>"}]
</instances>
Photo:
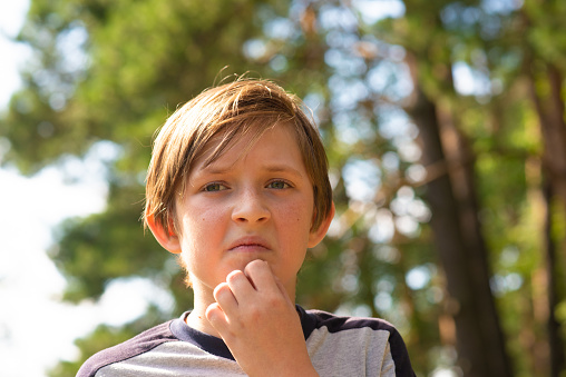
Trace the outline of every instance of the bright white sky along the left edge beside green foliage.
<instances>
[{"instance_id":1,"label":"bright white sky along the left edge beside green foliage","mask_svg":"<svg viewBox=\"0 0 566 377\"><path fill-rule=\"evenodd\" d=\"M0 111L21 82L19 67L30 51L13 43L29 0L0 1ZM0 161L7 140L0 135ZM52 229L62 219L104 209L107 186L96 159L70 160L68 168L86 171L66 182L56 168L32 177L13 167L0 168L0 376L41 377L59 359L74 359L74 340L98 324L129 321L158 296L147 281L129 279L109 287L99 302L78 306L60 301L65 278L47 256ZM119 307L120 310L116 310Z\"/></svg>"}]
</instances>

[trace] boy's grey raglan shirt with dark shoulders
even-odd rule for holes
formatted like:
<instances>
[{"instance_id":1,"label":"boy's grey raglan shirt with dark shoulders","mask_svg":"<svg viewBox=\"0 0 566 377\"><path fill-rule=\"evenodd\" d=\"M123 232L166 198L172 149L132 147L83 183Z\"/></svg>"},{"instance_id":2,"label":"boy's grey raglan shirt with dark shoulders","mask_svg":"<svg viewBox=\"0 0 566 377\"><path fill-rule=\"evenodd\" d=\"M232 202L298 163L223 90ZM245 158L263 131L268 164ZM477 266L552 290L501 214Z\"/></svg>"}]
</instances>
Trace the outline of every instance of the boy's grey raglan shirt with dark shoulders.
<instances>
[{"instance_id":1,"label":"boy's grey raglan shirt with dark shoulders","mask_svg":"<svg viewBox=\"0 0 566 377\"><path fill-rule=\"evenodd\" d=\"M403 339L389 323L296 308L320 376L414 376ZM77 377L245 376L224 341L189 327L187 315L94 355Z\"/></svg>"}]
</instances>

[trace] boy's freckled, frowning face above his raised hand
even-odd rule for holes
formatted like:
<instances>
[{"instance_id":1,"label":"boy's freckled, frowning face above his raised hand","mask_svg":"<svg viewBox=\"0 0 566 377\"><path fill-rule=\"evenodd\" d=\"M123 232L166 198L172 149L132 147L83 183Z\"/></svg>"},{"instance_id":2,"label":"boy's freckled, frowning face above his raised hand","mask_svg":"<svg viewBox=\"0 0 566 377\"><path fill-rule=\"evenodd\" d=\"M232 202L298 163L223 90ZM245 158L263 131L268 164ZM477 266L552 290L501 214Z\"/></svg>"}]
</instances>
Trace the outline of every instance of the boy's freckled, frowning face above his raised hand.
<instances>
[{"instance_id":1,"label":"boy's freckled, frowning face above his raised hand","mask_svg":"<svg viewBox=\"0 0 566 377\"><path fill-rule=\"evenodd\" d=\"M276 125L242 153L247 137L212 165L195 163L177 202L179 242L195 294L212 298L226 276L252 260L269 262L291 299L306 249L326 227L311 231L314 198L293 130Z\"/></svg>"}]
</instances>

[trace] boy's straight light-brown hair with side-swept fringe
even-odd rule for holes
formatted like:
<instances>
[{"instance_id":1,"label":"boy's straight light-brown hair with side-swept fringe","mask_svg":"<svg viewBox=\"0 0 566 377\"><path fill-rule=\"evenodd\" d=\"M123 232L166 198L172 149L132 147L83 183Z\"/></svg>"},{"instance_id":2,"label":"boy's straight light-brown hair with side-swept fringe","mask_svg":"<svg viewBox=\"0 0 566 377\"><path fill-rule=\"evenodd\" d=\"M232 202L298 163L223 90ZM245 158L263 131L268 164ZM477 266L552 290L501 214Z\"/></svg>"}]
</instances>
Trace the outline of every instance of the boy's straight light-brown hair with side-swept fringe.
<instances>
[{"instance_id":1,"label":"boy's straight light-brown hair with side-swept fringe","mask_svg":"<svg viewBox=\"0 0 566 377\"><path fill-rule=\"evenodd\" d=\"M175 113L159 130L146 180L144 222L154 217L165 231L178 232L176 202L185 192L195 161L214 137L221 141L204 162L214 162L243 136L250 145L277 123L292 126L314 192L311 230L330 215L332 189L328 160L320 135L301 109L302 102L267 80L238 79L205 90ZM173 228L173 229L172 229Z\"/></svg>"}]
</instances>

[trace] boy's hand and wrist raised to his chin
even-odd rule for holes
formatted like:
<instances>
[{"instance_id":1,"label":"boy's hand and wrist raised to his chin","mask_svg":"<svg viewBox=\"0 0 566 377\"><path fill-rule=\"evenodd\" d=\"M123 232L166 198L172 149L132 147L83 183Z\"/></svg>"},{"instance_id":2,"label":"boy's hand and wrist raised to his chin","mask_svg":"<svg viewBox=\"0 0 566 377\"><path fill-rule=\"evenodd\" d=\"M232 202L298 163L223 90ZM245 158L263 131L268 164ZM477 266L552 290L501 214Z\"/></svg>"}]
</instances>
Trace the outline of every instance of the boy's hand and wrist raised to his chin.
<instances>
[{"instance_id":1,"label":"boy's hand and wrist raised to his chin","mask_svg":"<svg viewBox=\"0 0 566 377\"><path fill-rule=\"evenodd\" d=\"M318 376L295 306L267 262L251 261L214 289L206 318L250 376Z\"/></svg>"}]
</instances>

